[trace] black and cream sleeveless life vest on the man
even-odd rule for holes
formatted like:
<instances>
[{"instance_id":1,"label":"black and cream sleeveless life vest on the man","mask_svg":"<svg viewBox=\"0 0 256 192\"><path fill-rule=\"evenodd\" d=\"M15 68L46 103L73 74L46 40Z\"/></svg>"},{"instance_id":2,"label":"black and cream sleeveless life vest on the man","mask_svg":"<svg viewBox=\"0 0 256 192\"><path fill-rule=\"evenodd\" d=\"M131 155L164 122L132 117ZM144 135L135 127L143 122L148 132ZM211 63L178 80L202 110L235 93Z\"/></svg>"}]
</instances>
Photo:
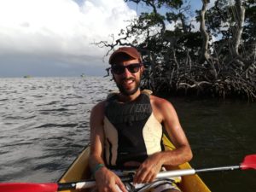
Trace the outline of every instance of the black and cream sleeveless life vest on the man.
<instances>
[{"instance_id":1,"label":"black and cream sleeveless life vest on the man","mask_svg":"<svg viewBox=\"0 0 256 192\"><path fill-rule=\"evenodd\" d=\"M104 117L105 162L124 168L127 161L143 162L162 150L162 125L154 117L150 92L143 90L134 101L118 102L118 94L107 98Z\"/></svg>"}]
</instances>

